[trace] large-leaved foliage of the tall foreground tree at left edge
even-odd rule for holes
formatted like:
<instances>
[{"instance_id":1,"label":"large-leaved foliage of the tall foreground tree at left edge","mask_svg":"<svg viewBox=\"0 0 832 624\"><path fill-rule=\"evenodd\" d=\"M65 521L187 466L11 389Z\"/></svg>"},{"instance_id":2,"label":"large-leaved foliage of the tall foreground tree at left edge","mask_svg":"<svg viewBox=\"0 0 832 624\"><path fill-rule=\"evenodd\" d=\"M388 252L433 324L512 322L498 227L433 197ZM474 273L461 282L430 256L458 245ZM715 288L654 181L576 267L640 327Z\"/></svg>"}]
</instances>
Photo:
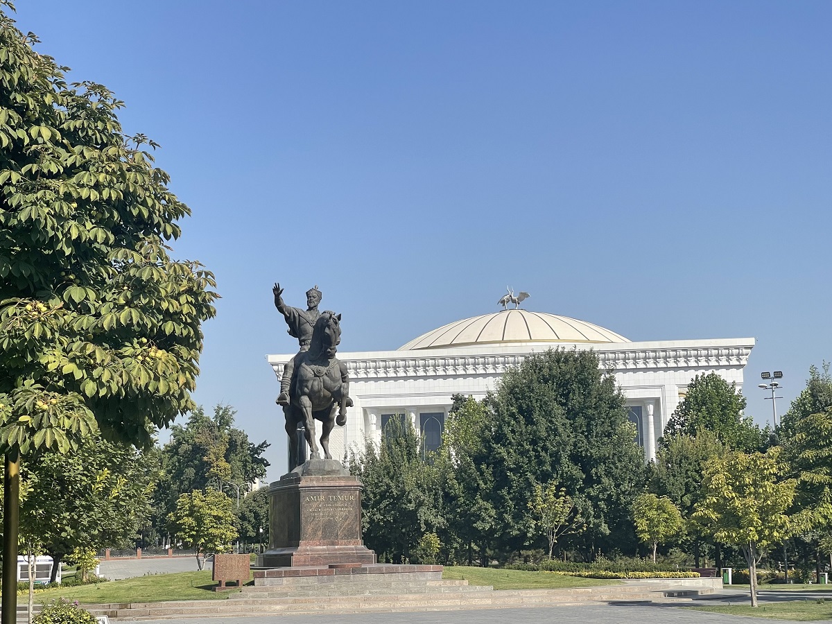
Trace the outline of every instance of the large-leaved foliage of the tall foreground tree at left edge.
<instances>
[{"instance_id":1,"label":"large-leaved foliage of the tall foreground tree at left edge","mask_svg":"<svg viewBox=\"0 0 832 624\"><path fill-rule=\"evenodd\" d=\"M123 106L0 12L0 446L151 443L195 406L213 275L172 260L190 210Z\"/></svg>"}]
</instances>

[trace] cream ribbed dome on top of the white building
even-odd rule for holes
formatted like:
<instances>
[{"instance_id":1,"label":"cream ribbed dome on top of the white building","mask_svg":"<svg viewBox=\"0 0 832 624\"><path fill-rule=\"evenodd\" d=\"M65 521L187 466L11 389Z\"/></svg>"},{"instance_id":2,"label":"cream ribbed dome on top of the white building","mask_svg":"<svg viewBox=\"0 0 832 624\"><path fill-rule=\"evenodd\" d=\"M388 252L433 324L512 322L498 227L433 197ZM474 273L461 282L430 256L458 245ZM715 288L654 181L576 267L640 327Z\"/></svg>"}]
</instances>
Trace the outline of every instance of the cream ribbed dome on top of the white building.
<instances>
[{"instance_id":1,"label":"cream ribbed dome on top of the white building","mask_svg":"<svg viewBox=\"0 0 832 624\"><path fill-rule=\"evenodd\" d=\"M399 351L414 349L448 349L469 344L495 343L620 343L624 336L585 320L567 316L502 310L470 319L458 320L422 334Z\"/></svg>"}]
</instances>

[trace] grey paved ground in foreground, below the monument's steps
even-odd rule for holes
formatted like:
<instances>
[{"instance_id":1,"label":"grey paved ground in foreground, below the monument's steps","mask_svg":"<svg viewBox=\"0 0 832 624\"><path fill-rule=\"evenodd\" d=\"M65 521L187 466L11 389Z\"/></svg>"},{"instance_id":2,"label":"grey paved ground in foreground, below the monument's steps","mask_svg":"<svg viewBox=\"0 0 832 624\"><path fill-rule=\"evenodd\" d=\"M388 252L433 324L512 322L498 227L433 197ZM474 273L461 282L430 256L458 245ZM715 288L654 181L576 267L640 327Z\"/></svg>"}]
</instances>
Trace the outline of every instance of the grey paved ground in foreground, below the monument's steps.
<instances>
[{"instance_id":1,"label":"grey paved ground in foreground, below the monument's steps","mask_svg":"<svg viewBox=\"0 0 832 624\"><path fill-rule=\"evenodd\" d=\"M644 604L587 605L586 607L541 607L476 611L416 613L355 613L309 616L212 617L210 624L793 624L786 620L726 616L723 613L690 611L679 607ZM171 624L171 620L145 620L142 624Z\"/></svg>"}]
</instances>

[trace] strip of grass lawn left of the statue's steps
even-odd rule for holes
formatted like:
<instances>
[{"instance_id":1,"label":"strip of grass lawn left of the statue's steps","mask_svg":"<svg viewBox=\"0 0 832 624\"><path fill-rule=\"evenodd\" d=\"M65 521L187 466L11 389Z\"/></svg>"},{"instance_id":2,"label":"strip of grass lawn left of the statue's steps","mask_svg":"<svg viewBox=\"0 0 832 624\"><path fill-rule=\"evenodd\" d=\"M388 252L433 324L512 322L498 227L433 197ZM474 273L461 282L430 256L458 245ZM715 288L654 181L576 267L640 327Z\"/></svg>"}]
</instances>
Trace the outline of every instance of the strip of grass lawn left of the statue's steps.
<instances>
[{"instance_id":1,"label":"strip of grass lawn left of the statue's steps","mask_svg":"<svg viewBox=\"0 0 832 624\"><path fill-rule=\"evenodd\" d=\"M210 580L210 570L201 572L174 572L172 574L151 574L145 577L125 578L121 581L106 581L78 587L57 587L35 594L35 602L47 602L63 597L83 604L106 604L107 602L161 602L166 600L222 600L230 593L214 592L216 585ZM253 577L252 577L253 578ZM25 602L26 595L18 596L17 602Z\"/></svg>"}]
</instances>

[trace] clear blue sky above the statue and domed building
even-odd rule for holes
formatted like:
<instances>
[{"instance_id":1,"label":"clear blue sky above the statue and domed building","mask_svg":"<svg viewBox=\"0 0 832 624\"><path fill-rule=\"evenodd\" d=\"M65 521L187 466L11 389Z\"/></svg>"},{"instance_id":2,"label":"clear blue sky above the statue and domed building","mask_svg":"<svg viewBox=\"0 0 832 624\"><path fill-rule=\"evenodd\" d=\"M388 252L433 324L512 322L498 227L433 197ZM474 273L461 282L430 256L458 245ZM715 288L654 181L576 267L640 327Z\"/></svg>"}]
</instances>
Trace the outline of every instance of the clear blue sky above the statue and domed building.
<instances>
[{"instance_id":1,"label":"clear blue sky above the statue and domed building","mask_svg":"<svg viewBox=\"0 0 832 624\"><path fill-rule=\"evenodd\" d=\"M37 49L124 100L215 272L196 400L285 467L265 354L314 284L341 348L497 310L632 340L755 337L832 359L829 2L18 0Z\"/></svg>"}]
</instances>

